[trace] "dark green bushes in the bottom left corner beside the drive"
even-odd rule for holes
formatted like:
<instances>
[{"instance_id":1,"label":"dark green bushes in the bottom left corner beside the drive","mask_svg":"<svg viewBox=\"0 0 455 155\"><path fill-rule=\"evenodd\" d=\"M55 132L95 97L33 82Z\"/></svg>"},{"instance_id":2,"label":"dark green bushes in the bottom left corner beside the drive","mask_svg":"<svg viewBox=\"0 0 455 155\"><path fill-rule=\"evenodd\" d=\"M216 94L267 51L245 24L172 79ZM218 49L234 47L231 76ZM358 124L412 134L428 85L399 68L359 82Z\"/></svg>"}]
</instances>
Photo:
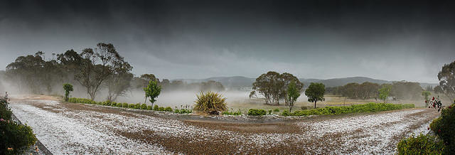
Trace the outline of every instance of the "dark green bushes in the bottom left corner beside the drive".
<instances>
[{"instance_id":1,"label":"dark green bushes in the bottom left corner beside the drive","mask_svg":"<svg viewBox=\"0 0 455 155\"><path fill-rule=\"evenodd\" d=\"M8 96L0 98L0 154L23 154L37 139L31 127L14 122L11 114Z\"/></svg>"}]
</instances>

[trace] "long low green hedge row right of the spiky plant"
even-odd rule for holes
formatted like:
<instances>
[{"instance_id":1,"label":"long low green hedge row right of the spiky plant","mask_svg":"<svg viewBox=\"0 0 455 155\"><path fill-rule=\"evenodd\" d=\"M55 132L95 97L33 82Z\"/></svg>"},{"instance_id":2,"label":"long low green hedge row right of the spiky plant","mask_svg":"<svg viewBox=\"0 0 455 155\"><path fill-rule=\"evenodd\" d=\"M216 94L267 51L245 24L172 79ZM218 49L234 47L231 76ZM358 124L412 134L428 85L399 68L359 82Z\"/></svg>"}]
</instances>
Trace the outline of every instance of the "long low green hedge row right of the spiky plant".
<instances>
[{"instance_id":1,"label":"long low green hedge row right of the spiky plant","mask_svg":"<svg viewBox=\"0 0 455 155\"><path fill-rule=\"evenodd\" d=\"M414 108L414 104L403 104L395 105L391 103L367 103L362 105L350 105L340 107L323 107L318 109L306 109L299 110L296 112L288 112L284 110L283 116L309 116L309 115L326 115L326 114L348 114L348 113L359 113L359 112L381 112L394 109L407 109Z\"/></svg>"}]
</instances>

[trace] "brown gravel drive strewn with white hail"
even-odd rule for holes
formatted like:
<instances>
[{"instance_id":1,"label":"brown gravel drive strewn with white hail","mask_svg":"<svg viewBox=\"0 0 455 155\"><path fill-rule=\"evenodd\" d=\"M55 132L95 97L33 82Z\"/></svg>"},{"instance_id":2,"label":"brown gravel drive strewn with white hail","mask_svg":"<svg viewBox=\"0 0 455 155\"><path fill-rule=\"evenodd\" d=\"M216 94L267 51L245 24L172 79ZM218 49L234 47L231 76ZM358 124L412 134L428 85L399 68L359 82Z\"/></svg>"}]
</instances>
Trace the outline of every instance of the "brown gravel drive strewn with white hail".
<instances>
[{"instance_id":1,"label":"brown gravel drive strewn with white hail","mask_svg":"<svg viewBox=\"0 0 455 155\"><path fill-rule=\"evenodd\" d=\"M51 97L16 97L11 109L53 154L393 154L427 132L434 109L314 117L203 117Z\"/></svg>"}]
</instances>

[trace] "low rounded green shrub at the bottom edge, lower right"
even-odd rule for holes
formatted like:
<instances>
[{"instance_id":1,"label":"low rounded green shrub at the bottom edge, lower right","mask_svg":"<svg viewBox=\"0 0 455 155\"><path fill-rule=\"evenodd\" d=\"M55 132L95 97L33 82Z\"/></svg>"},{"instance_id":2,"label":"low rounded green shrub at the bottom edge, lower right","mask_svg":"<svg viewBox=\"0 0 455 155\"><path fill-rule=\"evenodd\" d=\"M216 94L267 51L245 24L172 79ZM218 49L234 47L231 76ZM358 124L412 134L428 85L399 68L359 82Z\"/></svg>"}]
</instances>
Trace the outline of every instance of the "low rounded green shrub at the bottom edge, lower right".
<instances>
[{"instance_id":1,"label":"low rounded green shrub at the bottom edge, lower right","mask_svg":"<svg viewBox=\"0 0 455 155\"><path fill-rule=\"evenodd\" d=\"M444 142L431 135L412 135L398 143L397 151L398 154L441 154L444 152Z\"/></svg>"}]
</instances>

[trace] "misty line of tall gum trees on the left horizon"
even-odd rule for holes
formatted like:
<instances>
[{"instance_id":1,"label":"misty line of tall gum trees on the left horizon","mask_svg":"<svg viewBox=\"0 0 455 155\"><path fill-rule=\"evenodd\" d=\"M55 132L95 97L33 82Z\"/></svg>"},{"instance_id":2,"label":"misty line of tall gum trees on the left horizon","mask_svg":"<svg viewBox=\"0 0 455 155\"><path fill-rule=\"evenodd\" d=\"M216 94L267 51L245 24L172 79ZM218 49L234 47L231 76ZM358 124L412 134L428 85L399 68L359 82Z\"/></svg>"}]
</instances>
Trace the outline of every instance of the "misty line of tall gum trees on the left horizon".
<instances>
[{"instance_id":1,"label":"misty line of tall gum trees on the left horizon","mask_svg":"<svg viewBox=\"0 0 455 155\"><path fill-rule=\"evenodd\" d=\"M19 92L48 94L63 92L64 83L84 90L91 100L101 90L107 92L106 100L115 101L130 90L142 90L154 80L164 92L173 90L223 91L220 82L208 81L187 84L181 80L159 80L153 74L134 76L130 65L111 43L97 43L95 48L85 48L80 53L67 50L53 53L45 60L44 53L23 55L1 71L0 77L17 87Z\"/></svg>"}]
</instances>

